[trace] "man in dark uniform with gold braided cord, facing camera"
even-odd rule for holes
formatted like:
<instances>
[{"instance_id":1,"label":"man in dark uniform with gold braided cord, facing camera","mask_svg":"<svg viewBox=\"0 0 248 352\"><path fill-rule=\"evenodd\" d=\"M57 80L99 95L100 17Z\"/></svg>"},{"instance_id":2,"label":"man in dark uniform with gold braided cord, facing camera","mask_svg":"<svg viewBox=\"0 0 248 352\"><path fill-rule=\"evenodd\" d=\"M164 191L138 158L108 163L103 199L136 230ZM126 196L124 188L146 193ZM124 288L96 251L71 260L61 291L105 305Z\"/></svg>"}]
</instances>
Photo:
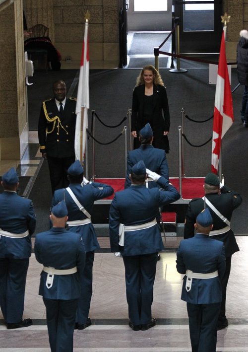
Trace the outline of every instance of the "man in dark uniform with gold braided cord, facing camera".
<instances>
[{"instance_id":1,"label":"man in dark uniform with gold braided cord, facing camera","mask_svg":"<svg viewBox=\"0 0 248 352\"><path fill-rule=\"evenodd\" d=\"M42 103L38 137L40 151L48 160L52 191L68 186L67 169L75 160L76 99L66 98L66 85L53 84L54 99Z\"/></svg>"}]
</instances>

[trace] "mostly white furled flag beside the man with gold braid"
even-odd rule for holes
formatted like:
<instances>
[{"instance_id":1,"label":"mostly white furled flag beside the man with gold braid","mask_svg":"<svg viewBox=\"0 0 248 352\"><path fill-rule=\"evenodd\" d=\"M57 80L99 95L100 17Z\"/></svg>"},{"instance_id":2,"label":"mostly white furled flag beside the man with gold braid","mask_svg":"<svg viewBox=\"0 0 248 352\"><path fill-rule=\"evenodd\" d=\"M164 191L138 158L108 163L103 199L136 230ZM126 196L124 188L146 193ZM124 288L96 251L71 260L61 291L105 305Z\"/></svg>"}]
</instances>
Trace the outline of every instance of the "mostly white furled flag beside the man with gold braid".
<instances>
[{"instance_id":1,"label":"mostly white furled flag beside the man with gold braid","mask_svg":"<svg viewBox=\"0 0 248 352\"><path fill-rule=\"evenodd\" d=\"M86 138L88 128L89 109L89 46L88 46L88 21L85 22L82 56L77 89L76 104L76 131L75 131L75 155L76 159L83 161L85 155Z\"/></svg>"}]
</instances>

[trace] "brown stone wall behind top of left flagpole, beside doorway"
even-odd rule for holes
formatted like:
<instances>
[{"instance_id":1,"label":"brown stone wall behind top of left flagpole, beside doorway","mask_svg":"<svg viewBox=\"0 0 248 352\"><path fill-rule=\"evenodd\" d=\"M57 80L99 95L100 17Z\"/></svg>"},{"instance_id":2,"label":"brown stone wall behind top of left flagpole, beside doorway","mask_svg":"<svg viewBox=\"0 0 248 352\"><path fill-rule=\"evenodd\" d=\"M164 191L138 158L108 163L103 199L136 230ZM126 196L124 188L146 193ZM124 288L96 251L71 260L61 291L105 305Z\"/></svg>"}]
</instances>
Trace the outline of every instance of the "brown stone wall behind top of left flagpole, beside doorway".
<instances>
[{"instance_id":1,"label":"brown stone wall behind top of left flagpole, beside doorway","mask_svg":"<svg viewBox=\"0 0 248 352\"><path fill-rule=\"evenodd\" d=\"M89 10L90 65L119 61L118 0L54 0L55 45L80 63L85 13Z\"/></svg>"}]
</instances>

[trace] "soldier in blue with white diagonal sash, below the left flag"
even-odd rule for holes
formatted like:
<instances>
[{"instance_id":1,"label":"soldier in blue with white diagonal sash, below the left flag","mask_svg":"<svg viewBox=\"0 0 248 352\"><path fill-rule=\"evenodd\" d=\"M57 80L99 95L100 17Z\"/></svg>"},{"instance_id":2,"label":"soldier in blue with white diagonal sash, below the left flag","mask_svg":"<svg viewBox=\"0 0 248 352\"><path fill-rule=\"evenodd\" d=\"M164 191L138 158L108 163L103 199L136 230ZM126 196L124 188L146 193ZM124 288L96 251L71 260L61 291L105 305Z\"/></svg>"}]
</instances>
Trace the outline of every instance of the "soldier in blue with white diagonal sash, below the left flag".
<instances>
[{"instance_id":1,"label":"soldier in blue with white diagonal sash, below the left flag","mask_svg":"<svg viewBox=\"0 0 248 352\"><path fill-rule=\"evenodd\" d=\"M95 249L100 248L96 233L91 222L94 201L111 196L114 190L111 186L98 182L89 182L83 177L83 167L76 160L68 168L69 187L57 190L53 197L53 205L64 200L68 209L67 225L69 230L80 233L86 251L86 263L81 276L81 294L75 328L82 330L91 325L89 318L92 295L92 268ZM81 183L83 182L83 186Z\"/></svg>"}]
</instances>

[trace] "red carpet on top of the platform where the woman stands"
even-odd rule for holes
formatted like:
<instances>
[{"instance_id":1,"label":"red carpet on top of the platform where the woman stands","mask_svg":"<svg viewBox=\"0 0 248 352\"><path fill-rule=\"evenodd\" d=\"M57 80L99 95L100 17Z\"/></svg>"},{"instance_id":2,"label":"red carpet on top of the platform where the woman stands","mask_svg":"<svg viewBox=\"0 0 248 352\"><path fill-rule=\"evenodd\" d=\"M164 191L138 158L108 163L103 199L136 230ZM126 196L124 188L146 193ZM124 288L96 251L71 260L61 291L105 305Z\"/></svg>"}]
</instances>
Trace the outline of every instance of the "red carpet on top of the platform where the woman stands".
<instances>
[{"instance_id":1,"label":"red carpet on top of the platform where the woman stands","mask_svg":"<svg viewBox=\"0 0 248 352\"><path fill-rule=\"evenodd\" d=\"M96 182L106 183L112 186L115 192L124 190L124 178L96 178ZM179 191L179 179L178 178L170 178L170 182L177 188ZM182 195L184 199L192 199L203 197L203 183L204 177L199 178L183 178L182 179ZM113 199L113 196L108 197L106 199Z\"/></svg>"}]
</instances>

